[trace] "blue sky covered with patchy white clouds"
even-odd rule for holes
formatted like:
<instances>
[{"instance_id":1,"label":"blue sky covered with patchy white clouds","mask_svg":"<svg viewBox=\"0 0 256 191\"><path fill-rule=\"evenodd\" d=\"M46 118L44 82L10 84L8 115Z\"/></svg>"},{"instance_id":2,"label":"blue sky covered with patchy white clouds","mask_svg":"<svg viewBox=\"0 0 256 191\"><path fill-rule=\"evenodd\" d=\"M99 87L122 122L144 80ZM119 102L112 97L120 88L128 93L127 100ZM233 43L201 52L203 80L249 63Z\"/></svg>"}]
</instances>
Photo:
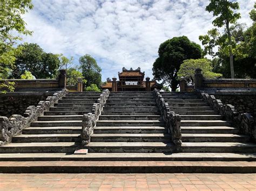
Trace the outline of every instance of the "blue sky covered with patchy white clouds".
<instances>
[{"instance_id":1,"label":"blue sky covered with patchy white clouds","mask_svg":"<svg viewBox=\"0 0 256 191\"><path fill-rule=\"evenodd\" d=\"M74 56L90 54L102 68L102 80L117 76L122 67L138 66L152 77L158 47L165 40L198 36L212 29L207 0L32 0L34 8L24 16L32 37L46 52ZM248 16L254 0L239 0L240 23L251 25Z\"/></svg>"}]
</instances>

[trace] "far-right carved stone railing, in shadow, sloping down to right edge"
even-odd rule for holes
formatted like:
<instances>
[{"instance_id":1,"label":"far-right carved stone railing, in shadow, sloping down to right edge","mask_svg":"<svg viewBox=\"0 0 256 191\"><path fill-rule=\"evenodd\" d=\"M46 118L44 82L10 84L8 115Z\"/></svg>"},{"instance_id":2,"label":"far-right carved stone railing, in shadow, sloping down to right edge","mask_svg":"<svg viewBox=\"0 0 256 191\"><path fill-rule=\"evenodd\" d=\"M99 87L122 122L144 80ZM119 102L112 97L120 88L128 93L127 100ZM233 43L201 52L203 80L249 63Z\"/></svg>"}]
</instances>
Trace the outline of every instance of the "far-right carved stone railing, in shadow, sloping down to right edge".
<instances>
[{"instance_id":1,"label":"far-right carved stone railing, in shadow, sloping down to right edge","mask_svg":"<svg viewBox=\"0 0 256 191\"><path fill-rule=\"evenodd\" d=\"M250 136L251 140L256 142L256 124L254 123L254 119L251 114L239 114L233 105L224 105L221 100L217 100L213 95L201 93L200 90L196 90L196 93L203 98L203 100L207 102L214 109L214 111L217 111L218 114L225 116L235 128L239 129L240 133Z\"/></svg>"}]
</instances>

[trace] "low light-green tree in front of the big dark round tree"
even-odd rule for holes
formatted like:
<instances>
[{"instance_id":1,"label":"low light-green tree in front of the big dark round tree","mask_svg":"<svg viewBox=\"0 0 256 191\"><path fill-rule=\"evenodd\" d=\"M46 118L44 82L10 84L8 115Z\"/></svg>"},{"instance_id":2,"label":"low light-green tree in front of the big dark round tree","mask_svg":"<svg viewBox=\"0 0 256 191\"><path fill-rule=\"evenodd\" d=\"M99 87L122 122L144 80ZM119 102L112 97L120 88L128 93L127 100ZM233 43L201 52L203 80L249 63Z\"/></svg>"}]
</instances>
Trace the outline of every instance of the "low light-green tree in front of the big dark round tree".
<instances>
[{"instance_id":1,"label":"low light-green tree in front of the big dark round tree","mask_svg":"<svg viewBox=\"0 0 256 191\"><path fill-rule=\"evenodd\" d=\"M200 68L205 78L212 79L221 77L222 74L212 72L211 61L207 59L190 59L184 60L184 62L180 65L180 69L178 71L178 77L185 77L187 82L194 82L194 70Z\"/></svg>"}]
</instances>

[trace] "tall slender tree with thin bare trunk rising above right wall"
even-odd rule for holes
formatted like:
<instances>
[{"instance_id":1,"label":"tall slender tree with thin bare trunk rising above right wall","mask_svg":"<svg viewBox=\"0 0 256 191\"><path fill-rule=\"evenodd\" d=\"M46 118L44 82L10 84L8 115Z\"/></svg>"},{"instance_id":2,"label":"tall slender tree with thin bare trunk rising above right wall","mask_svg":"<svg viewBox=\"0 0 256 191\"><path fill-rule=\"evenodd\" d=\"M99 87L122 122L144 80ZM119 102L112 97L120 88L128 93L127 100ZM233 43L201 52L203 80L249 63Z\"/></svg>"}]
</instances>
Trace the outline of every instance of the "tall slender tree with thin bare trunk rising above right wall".
<instances>
[{"instance_id":1,"label":"tall slender tree with thin bare trunk rising above right wall","mask_svg":"<svg viewBox=\"0 0 256 191\"><path fill-rule=\"evenodd\" d=\"M206 6L206 11L212 12L215 19L212 24L215 27L225 26L225 33L220 36L217 29L208 31L205 36L200 36L199 39L205 45L205 53L213 54L213 48L219 46L219 52L227 53L230 56L231 78L234 78L233 68L233 48L236 44L232 38L230 24L234 24L241 17L240 13L234 12L239 9L238 2L228 0L210 0L210 4Z\"/></svg>"}]
</instances>

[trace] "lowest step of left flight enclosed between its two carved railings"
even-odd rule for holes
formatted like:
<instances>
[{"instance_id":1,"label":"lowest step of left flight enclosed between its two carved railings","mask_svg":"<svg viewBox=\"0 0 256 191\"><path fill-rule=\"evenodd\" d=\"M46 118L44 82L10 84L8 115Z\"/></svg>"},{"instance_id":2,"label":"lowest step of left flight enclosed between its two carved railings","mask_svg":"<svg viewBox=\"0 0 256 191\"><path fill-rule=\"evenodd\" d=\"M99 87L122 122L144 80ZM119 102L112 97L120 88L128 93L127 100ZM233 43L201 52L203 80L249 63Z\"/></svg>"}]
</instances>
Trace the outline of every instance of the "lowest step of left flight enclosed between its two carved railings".
<instances>
[{"instance_id":1,"label":"lowest step of left flight enclosed between its two carved railings","mask_svg":"<svg viewBox=\"0 0 256 191\"><path fill-rule=\"evenodd\" d=\"M37 134L18 135L12 138L12 143L48 143L48 142L79 142L79 134Z\"/></svg>"}]
</instances>

